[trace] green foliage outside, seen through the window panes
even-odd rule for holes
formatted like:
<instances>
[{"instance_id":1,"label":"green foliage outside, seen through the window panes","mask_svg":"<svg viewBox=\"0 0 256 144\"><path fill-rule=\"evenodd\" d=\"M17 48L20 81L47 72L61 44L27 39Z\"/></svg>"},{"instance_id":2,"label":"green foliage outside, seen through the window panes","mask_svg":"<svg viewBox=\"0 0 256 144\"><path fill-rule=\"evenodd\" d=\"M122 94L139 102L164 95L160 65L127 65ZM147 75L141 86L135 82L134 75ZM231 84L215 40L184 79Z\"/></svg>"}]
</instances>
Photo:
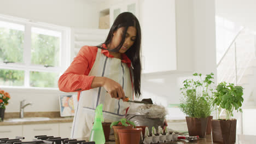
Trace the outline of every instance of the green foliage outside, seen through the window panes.
<instances>
[{"instance_id":1,"label":"green foliage outside, seen through the window panes","mask_svg":"<svg viewBox=\"0 0 256 144\"><path fill-rule=\"evenodd\" d=\"M31 34L31 64L59 66L59 52L59 37ZM23 55L24 31L0 28L0 61L24 63ZM56 73L31 71L30 85L32 87L57 87L57 76ZM24 70L0 69L0 85L24 86L24 77Z\"/></svg>"}]
</instances>

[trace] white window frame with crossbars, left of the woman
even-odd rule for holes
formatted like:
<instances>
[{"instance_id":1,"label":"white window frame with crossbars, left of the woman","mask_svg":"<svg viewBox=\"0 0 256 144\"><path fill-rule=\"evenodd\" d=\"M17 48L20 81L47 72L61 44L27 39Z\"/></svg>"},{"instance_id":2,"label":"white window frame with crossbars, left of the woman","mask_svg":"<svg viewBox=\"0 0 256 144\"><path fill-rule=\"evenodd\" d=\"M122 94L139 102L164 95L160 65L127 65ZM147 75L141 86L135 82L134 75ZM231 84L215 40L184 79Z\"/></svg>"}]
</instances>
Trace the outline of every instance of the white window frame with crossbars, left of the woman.
<instances>
[{"instance_id":1,"label":"white window frame with crossbars, left of the woman","mask_svg":"<svg viewBox=\"0 0 256 144\"><path fill-rule=\"evenodd\" d=\"M24 25L24 52L23 52L23 63L8 63L5 64L0 62L0 69L10 69L10 70L24 70L24 86L2 86L4 88L32 88L32 89L58 89L52 87L31 87L30 86L30 71L39 72L51 72L58 73L59 75L66 70L71 62L71 28L57 26L44 22L34 22L27 19L21 19L18 17L6 16L0 14L0 21L16 23L19 25ZM61 43L59 59L60 63L57 67L44 67L44 65L33 65L31 64L31 29L32 27L48 29L50 31L57 31L61 33Z\"/></svg>"}]
</instances>

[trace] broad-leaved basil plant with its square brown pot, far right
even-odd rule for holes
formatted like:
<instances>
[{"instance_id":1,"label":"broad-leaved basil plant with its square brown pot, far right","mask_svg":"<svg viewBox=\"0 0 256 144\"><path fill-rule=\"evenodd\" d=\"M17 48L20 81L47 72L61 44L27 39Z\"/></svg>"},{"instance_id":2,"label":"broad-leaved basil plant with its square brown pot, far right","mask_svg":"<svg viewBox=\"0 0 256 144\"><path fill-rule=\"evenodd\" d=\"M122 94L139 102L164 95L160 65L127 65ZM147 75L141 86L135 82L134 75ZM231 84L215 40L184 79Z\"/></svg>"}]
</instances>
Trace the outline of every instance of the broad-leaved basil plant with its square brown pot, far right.
<instances>
[{"instance_id":1,"label":"broad-leaved basil plant with its square brown pot, far right","mask_svg":"<svg viewBox=\"0 0 256 144\"><path fill-rule=\"evenodd\" d=\"M235 143L236 142L236 119L231 119L233 111L242 112L240 107L243 103L243 88L235 86L233 83L227 85L226 82L219 83L217 92L214 93L213 106L226 110L226 118L212 120L212 139L215 143ZM216 109L217 110L217 109ZM217 112L216 112L217 113Z\"/></svg>"}]
</instances>

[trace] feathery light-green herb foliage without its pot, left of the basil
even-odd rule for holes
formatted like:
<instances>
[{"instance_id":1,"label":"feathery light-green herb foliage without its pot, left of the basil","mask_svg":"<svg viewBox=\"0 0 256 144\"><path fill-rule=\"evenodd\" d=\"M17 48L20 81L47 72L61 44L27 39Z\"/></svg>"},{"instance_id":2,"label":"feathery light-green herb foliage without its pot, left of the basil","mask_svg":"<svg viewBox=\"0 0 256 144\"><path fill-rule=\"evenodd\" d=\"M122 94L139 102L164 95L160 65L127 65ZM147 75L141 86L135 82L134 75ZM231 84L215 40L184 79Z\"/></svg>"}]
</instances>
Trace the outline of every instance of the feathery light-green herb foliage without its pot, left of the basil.
<instances>
[{"instance_id":1,"label":"feathery light-green herb foliage without its pot, left of the basil","mask_svg":"<svg viewBox=\"0 0 256 144\"><path fill-rule=\"evenodd\" d=\"M213 73L206 75L202 79L202 74L193 74L194 79L183 81L184 87L181 88L181 104L180 109L189 117L206 118L211 115L214 110L213 89Z\"/></svg>"}]
</instances>

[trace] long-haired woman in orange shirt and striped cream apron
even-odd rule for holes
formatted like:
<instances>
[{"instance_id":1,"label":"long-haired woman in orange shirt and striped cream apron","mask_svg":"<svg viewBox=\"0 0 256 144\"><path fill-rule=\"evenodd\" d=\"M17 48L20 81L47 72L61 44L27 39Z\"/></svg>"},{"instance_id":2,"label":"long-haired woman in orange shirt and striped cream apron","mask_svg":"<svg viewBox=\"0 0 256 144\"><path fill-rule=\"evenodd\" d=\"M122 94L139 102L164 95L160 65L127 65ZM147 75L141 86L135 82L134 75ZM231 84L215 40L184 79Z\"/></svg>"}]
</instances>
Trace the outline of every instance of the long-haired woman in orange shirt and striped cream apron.
<instances>
[{"instance_id":1,"label":"long-haired woman in orange shirt and striped cream apron","mask_svg":"<svg viewBox=\"0 0 256 144\"><path fill-rule=\"evenodd\" d=\"M99 46L83 46L59 79L59 89L78 91L71 138L89 137L94 112L103 104L105 122L123 118L129 103L141 95L141 27L132 13L121 13Z\"/></svg>"}]
</instances>

